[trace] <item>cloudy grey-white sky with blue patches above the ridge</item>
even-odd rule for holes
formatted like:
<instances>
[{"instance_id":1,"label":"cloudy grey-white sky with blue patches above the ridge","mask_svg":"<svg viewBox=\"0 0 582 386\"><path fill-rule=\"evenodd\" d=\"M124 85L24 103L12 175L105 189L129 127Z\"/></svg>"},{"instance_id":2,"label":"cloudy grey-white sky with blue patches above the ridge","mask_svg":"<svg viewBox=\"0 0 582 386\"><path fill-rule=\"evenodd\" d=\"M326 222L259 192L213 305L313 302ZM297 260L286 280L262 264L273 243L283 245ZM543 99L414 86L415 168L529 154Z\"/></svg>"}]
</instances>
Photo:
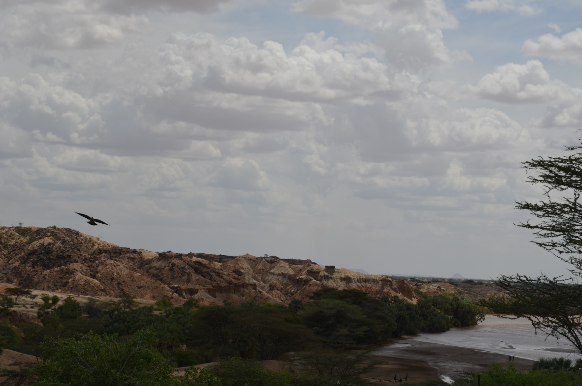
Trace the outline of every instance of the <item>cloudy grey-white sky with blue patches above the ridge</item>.
<instances>
[{"instance_id":1,"label":"cloudy grey-white sky with blue patches above the ridge","mask_svg":"<svg viewBox=\"0 0 582 386\"><path fill-rule=\"evenodd\" d=\"M549 276L578 0L0 0L0 224L370 273ZM92 227L74 212L111 227Z\"/></svg>"}]
</instances>

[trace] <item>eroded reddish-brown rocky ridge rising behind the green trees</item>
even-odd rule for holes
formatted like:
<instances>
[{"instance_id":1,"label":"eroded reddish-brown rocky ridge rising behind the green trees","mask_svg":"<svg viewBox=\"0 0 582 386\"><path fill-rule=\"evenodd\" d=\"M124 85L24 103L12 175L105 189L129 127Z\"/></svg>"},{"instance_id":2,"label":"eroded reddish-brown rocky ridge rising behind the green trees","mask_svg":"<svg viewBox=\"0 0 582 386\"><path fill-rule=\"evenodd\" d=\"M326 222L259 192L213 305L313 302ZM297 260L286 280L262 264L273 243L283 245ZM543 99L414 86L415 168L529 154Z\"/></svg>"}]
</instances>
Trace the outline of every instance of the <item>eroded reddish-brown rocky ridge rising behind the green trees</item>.
<instances>
[{"instance_id":1,"label":"eroded reddish-brown rocky ridge rising behind the green trees","mask_svg":"<svg viewBox=\"0 0 582 386\"><path fill-rule=\"evenodd\" d=\"M72 229L0 227L0 282L89 296L288 303L322 286L416 301L404 280L365 275L311 260L154 253L132 250Z\"/></svg>"}]
</instances>

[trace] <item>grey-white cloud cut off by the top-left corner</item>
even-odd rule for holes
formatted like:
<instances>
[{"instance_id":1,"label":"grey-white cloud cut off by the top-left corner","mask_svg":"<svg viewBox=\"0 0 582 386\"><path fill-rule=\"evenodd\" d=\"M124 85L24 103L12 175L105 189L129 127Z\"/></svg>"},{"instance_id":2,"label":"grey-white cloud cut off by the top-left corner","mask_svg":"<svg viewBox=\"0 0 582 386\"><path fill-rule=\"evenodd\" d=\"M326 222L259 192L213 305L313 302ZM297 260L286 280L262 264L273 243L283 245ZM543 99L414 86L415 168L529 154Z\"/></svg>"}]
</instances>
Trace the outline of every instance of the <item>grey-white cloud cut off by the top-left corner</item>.
<instances>
[{"instance_id":1,"label":"grey-white cloud cut off by the top-left corner","mask_svg":"<svg viewBox=\"0 0 582 386\"><path fill-rule=\"evenodd\" d=\"M208 13L228 1L5 0L0 2L0 39L53 50L104 48L143 31L150 12Z\"/></svg>"}]
</instances>

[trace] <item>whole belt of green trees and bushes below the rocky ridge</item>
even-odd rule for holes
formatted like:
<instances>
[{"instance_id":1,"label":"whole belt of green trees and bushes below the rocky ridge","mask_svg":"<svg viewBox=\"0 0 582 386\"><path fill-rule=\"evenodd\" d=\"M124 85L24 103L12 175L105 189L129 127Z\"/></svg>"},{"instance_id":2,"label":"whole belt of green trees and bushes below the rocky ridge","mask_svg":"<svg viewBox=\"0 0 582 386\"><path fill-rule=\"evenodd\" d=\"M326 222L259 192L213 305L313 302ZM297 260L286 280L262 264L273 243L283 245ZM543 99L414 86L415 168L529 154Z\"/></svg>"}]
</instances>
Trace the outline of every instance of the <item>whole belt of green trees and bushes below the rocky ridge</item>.
<instances>
[{"instance_id":1,"label":"whole belt of green trees and bushes below the rocky ridge","mask_svg":"<svg viewBox=\"0 0 582 386\"><path fill-rule=\"evenodd\" d=\"M24 289L12 294L31 297ZM1 314L9 317L16 301L7 294L0 297ZM425 296L411 304L331 288L288 307L253 302L200 306L193 300L175 306L166 298L140 307L127 294L83 306L72 297L42 294L40 300L40 324L19 324L19 332L6 321L0 325L3 348L41 358L29 371L37 385L137 385L144 379L152 385L358 385L373 367L359 346L474 325L485 311L450 295ZM276 373L253 362L288 352L303 353L301 374ZM172 375L174 367L207 362L221 364Z\"/></svg>"}]
</instances>

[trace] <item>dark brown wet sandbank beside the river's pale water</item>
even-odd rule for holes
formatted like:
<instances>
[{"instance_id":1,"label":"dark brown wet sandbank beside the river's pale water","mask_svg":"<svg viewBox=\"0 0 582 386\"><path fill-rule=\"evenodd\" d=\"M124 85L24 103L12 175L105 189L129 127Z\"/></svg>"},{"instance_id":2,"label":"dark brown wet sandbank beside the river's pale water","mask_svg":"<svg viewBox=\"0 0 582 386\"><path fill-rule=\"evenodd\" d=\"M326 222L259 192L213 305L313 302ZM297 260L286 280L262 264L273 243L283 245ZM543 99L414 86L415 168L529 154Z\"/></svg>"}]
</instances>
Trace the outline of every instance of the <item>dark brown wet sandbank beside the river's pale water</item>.
<instances>
[{"instance_id":1,"label":"dark brown wet sandbank beside the river's pale water","mask_svg":"<svg viewBox=\"0 0 582 386\"><path fill-rule=\"evenodd\" d=\"M509 355L402 338L372 352L371 360L381 364L366 377L372 384L394 382L395 374L397 379L408 374L409 382L443 380L445 377L457 380L464 372L485 371L494 362L505 365L508 359ZM527 371L534 361L516 357L512 363L517 369Z\"/></svg>"}]
</instances>

